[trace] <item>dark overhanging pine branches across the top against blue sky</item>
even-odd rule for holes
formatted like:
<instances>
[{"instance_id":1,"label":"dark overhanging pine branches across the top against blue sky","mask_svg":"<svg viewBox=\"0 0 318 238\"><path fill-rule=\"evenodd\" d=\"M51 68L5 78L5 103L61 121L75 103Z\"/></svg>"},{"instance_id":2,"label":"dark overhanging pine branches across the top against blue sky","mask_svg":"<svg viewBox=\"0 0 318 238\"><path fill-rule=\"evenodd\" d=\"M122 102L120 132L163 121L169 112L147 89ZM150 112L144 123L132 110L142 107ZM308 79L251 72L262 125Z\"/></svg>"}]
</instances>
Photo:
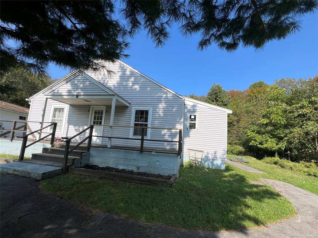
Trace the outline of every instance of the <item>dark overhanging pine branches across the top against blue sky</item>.
<instances>
[{"instance_id":1,"label":"dark overhanging pine branches across the top against blue sky","mask_svg":"<svg viewBox=\"0 0 318 238\"><path fill-rule=\"evenodd\" d=\"M163 46L173 23L183 36L201 36L198 50L211 44L227 51L239 45L262 49L298 31L298 19L318 6L317 0L123 0L121 8L114 2L2 1L1 68L22 64L41 74L49 63L96 69L103 66L98 60L127 57L128 38L141 30Z\"/></svg>"}]
</instances>

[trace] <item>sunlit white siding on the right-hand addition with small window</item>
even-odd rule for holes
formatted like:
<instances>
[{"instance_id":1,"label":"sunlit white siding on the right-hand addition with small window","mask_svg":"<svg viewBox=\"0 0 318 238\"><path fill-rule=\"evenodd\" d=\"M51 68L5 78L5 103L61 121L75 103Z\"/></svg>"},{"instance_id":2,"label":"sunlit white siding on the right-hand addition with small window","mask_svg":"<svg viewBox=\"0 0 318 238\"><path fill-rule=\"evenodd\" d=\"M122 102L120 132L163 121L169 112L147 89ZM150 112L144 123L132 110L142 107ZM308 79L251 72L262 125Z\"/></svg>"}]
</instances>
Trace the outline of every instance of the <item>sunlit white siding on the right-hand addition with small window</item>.
<instances>
[{"instance_id":1,"label":"sunlit white siding on the right-hand addition with small window","mask_svg":"<svg viewBox=\"0 0 318 238\"><path fill-rule=\"evenodd\" d=\"M188 160L188 148L204 150L204 164L212 167L212 160L226 160L227 113L185 101L183 124L183 159ZM188 129L188 116L199 115L196 130ZM201 152L200 152L201 153ZM200 154L198 153L198 154ZM201 156L201 154L200 154Z\"/></svg>"}]
</instances>

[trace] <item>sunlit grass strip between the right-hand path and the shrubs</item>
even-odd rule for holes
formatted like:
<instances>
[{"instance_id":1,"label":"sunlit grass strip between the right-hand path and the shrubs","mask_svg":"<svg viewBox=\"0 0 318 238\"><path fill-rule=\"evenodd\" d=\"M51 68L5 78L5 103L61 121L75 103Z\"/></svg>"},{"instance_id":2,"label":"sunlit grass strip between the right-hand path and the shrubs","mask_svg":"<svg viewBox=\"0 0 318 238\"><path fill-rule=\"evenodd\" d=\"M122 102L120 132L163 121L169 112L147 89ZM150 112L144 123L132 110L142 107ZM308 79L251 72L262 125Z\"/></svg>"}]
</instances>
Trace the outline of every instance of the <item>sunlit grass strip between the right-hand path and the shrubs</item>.
<instances>
[{"instance_id":1,"label":"sunlit grass strip between the right-hand path and the shrubs","mask_svg":"<svg viewBox=\"0 0 318 238\"><path fill-rule=\"evenodd\" d=\"M237 157L237 155L227 155L229 158ZM243 156L245 157L245 156ZM291 171L289 169L283 169L274 164L268 164L261 160L249 159L249 163L244 165L258 169L266 174L254 174L254 180L259 178L275 179L283 182L290 183L296 187L305 189L309 192L318 195L318 178L314 176L305 175L301 172Z\"/></svg>"}]
</instances>

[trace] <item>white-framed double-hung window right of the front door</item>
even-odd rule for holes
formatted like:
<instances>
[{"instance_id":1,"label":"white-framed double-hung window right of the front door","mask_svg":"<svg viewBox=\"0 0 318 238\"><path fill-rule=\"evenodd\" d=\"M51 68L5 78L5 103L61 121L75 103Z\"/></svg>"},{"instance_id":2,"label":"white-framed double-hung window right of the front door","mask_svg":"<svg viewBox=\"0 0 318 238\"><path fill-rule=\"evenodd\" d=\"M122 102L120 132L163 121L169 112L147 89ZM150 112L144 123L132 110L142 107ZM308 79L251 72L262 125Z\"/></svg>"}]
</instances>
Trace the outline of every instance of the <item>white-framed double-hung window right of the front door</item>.
<instances>
[{"instance_id":1,"label":"white-framed double-hung window right of the front door","mask_svg":"<svg viewBox=\"0 0 318 238\"><path fill-rule=\"evenodd\" d=\"M151 123L151 108L134 108L133 109L132 125L135 127L150 127ZM132 136L141 136L142 128L133 128ZM145 128L145 137L149 137L149 130Z\"/></svg>"}]
</instances>

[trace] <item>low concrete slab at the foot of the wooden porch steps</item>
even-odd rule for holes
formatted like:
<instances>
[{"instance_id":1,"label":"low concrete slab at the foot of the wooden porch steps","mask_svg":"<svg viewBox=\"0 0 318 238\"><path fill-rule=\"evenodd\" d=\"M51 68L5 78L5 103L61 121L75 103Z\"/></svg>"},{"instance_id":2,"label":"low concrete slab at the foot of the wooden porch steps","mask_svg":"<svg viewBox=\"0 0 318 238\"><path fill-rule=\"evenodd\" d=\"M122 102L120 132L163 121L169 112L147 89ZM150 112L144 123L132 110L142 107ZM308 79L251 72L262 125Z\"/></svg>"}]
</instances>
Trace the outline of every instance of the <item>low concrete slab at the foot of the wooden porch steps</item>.
<instances>
[{"instance_id":1,"label":"low concrete slab at the foot of the wooden porch steps","mask_svg":"<svg viewBox=\"0 0 318 238\"><path fill-rule=\"evenodd\" d=\"M1 164L0 173L14 174L43 180L61 174L62 168L21 161L16 163Z\"/></svg>"}]
</instances>

